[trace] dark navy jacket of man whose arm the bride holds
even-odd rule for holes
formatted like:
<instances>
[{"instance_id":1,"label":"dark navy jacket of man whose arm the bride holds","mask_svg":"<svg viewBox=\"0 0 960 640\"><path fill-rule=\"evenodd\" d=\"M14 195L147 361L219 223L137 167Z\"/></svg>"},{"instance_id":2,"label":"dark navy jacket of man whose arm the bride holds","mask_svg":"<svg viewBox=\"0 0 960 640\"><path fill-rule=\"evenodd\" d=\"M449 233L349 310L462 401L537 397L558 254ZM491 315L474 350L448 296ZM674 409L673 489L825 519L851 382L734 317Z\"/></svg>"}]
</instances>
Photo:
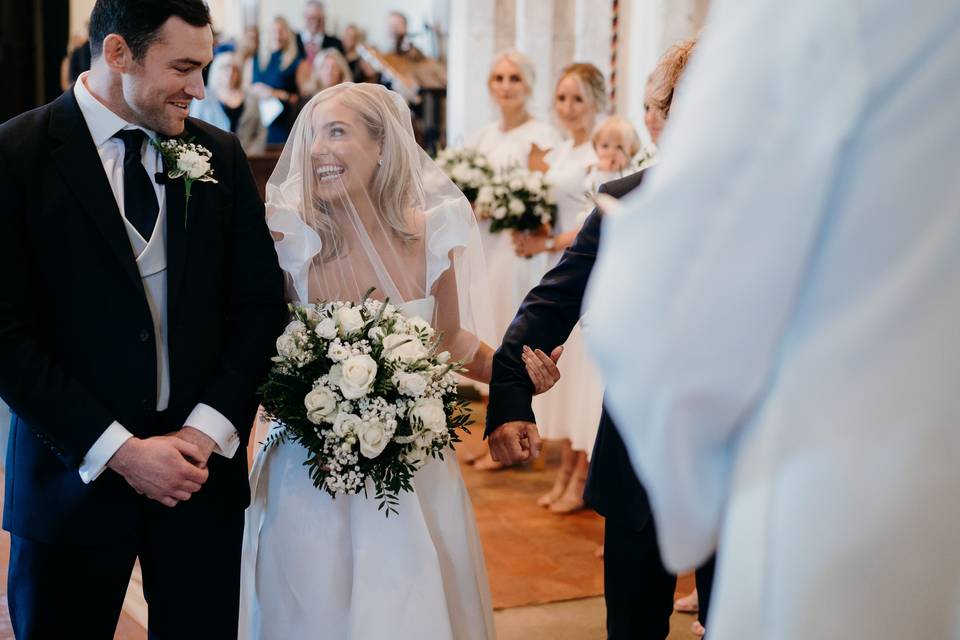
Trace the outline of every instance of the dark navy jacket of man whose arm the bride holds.
<instances>
[{"instance_id":1,"label":"dark navy jacket of man whose arm the bride holds","mask_svg":"<svg viewBox=\"0 0 960 640\"><path fill-rule=\"evenodd\" d=\"M600 190L619 198L642 179L643 172L635 173L608 182ZM523 345L529 345L550 353L566 341L577 324L584 290L597 258L601 221L600 213L594 210L573 245L527 294L510 323L493 357L486 435L505 422L536 422L531 406L533 385L520 358L521 350ZM625 527L639 530L650 518L646 492L630 466L627 450L606 409L600 417L584 499L602 516Z\"/></svg>"}]
</instances>

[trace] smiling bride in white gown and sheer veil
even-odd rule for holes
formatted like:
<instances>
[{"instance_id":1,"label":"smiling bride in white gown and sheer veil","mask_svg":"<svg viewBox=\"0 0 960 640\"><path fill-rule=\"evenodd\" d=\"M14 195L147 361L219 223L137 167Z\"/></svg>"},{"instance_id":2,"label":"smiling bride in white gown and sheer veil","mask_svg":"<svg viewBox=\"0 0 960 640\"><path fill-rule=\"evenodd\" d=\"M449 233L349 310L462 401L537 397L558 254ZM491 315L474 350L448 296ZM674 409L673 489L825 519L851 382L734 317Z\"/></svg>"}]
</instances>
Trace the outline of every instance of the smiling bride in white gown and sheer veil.
<instances>
[{"instance_id":1,"label":"smiling bride in white gown and sheer veil","mask_svg":"<svg viewBox=\"0 0 960 640\"><path fill-rule=\"evenodd\" d=\"M481 239L463 195L417 146L410 112L373 84L341 84L297 119L267 185L267 223L288 298L389 298L443 333L443 349L488 382L488 289ZM559 375L538 354L536 391ZM274 426L272 429L276 429ZM453 452L400 494L332 499L306 450L262 449L251 471L240 638L493 638L490 592L470 498Z\"/></svg>"}]
</instances>

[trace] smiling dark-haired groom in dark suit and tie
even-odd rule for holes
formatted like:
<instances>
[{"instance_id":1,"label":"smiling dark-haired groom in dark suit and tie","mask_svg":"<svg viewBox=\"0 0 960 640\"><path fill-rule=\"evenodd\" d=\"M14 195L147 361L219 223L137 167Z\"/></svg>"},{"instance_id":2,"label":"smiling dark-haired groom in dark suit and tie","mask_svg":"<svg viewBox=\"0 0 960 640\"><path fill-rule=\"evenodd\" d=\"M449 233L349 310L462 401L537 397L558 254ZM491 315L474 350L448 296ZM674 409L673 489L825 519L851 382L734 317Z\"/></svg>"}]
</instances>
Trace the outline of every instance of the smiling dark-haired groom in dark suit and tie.
<instances>
[{"instance_id":1,"label":"smiling dark-haired groom in dark suit and tie","mask_svg":"<svg viewBox=\"0 0 960 640\"><path fill-rule=\"evenodd\" d=\"M236 637L243 444L284 304L239 143L187 119L212 42L202 0L98 0L90 72L0 126L19 640L112 638L137 558L151 637ZM158 136L217 182L188 202Z\"/></svg>"}]
</instances>

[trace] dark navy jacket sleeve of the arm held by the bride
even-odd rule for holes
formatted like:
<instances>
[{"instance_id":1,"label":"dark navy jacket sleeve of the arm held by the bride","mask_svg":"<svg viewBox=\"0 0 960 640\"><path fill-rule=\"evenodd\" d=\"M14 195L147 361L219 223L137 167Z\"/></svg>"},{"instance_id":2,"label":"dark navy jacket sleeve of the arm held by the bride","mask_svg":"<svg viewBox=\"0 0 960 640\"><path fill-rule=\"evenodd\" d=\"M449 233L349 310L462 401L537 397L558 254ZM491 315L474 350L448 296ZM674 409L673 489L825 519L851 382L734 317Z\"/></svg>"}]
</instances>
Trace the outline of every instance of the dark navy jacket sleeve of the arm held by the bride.
<instances>
[{"instance_id":1,"label":"dark navy jacket sleeve of the arm held by the bride","mask_svg":"<svg viewBox=\"0 0 960 640\"><path fill-rule=\"evenodd\" d=\"M533 383L520 358L521 351L528 345L550 353L566 341L580 319L599 241L600 213L594 210L557 266L524 298L493 356L486 435L505 422L535 422Z\"/></svg>"}]
</instances>

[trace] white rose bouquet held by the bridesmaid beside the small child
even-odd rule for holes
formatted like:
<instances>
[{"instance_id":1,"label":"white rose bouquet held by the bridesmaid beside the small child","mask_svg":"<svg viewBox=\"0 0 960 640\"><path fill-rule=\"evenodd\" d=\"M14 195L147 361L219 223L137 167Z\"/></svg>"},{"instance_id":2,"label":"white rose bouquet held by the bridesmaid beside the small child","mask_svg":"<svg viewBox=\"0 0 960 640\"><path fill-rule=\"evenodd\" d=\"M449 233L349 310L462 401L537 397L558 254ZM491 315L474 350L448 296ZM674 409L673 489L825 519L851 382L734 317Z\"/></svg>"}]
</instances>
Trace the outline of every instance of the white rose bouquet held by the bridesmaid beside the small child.
<instances>
[{"instance_id":1,"label":"white rose bouquet held by the bridesmaid beside the small child","mask_svg":"<svg viewBox=\"0 0 960 640\"><path fill-rule=\"evenodd\" d=\"M477 194L477 212L490 219L490 232L534 231L556 221L557 205L539 171L512 167L493 176Z\"/></svg>"}]
</instances>

